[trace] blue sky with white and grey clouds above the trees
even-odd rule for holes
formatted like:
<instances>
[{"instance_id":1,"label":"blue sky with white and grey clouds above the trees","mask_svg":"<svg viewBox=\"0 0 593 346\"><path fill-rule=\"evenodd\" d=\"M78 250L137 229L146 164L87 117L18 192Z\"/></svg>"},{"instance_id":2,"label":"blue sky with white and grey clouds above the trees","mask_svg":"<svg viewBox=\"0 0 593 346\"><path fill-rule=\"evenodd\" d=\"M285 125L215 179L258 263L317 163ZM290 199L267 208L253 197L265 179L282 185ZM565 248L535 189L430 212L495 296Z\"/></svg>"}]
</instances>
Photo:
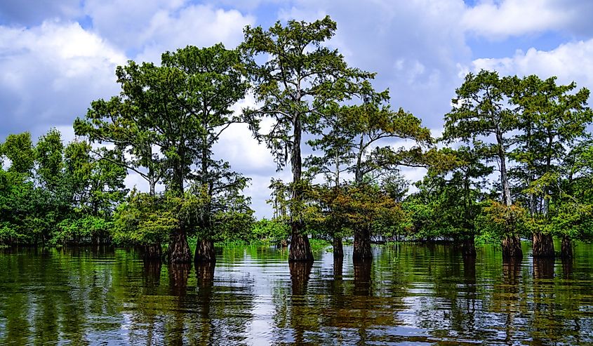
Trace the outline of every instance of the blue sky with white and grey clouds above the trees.
<instances>
[{"instance_id":1,"label":"blue sky with white and grey clouds above the trees","mask_svg":"<svg viewBox=\"0 0 593 346\"><path fill-rule=\"evenodd\" d=\"M331 15L328 43L348 64L377 72L403 107L439 135L467 72L558 76L593 88L590 0L6 0L0 1L0 140L55 127L72 140L72 121L92 100L119 93L114 71L127 60L159 62L164 51L222 42L234 48L246 25L313 21ZM253 105L246 98L234 107ZM229 128L215 154L250 177L258 217L272 211L272 156L246 126ZM421 169L404 169L418 180ZM138 177L128 187L147 189Z\"/></svg>"}]
</instances>

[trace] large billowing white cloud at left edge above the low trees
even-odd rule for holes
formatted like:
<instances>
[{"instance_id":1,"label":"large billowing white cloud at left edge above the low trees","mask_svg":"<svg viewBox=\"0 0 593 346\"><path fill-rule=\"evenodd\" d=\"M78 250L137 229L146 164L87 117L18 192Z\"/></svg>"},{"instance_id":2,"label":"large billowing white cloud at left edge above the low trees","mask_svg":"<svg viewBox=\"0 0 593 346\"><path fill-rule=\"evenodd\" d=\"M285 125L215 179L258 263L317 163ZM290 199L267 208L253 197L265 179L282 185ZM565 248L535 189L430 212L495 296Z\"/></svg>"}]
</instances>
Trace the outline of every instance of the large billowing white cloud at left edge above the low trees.
<instances>
[{"instance_id":1,"label":"large billowing white cloud at left edge above the low trees","mask_svg":"<svg viewBox=\"0 0 593 346\"><path fill-rule=\"evenodd\" d=\"M72 124L91 100L116 93L115 66L126 56L78 23L0 26L0 136Z\"/></svg>"}]
</instances>

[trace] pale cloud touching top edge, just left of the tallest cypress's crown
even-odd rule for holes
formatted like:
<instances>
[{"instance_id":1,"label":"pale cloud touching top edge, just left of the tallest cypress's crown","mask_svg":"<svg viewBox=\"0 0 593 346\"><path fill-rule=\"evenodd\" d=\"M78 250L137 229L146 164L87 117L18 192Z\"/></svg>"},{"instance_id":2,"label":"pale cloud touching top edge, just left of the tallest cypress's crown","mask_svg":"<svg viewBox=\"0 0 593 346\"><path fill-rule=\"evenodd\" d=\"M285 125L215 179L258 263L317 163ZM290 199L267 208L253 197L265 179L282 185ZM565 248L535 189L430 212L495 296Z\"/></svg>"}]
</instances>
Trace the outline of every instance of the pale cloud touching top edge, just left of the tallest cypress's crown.
<instances>
[{"instance_id":1,"label":"pale cloud touching top edge, just left of the tallest cypress's crown","mask_svg":"<svg viewBox=\"0 0 593 346\"><path fill-rule=\"evenodd\" d=\"M84 12L93 31L125 49L131 58L159 62L161 53L187 45L232 47L243 27L255 19L234 9L192 4L185 0L90 0Z\"/></svg>"}]
</instances>

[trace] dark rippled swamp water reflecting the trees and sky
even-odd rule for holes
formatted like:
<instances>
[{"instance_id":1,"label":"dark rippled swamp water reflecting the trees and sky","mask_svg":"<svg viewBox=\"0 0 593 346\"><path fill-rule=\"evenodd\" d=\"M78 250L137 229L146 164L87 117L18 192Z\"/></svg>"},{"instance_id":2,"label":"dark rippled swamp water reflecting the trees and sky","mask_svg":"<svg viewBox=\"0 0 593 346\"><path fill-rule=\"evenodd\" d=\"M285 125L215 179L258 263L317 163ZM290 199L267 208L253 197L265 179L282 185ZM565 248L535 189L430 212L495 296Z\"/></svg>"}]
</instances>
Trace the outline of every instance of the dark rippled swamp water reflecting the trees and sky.
<instances>
[{"instance_id":1,"label":"dark rippled swamp water reflecting the trees and sky","mask_svg":"<svg viewBox=\"0 0 593 346\"><path fill-rule=\"evenodd\" d=\"M331 248L330 248L331 251ZM0 250L1 345L593 345L593 246L502 264L493 246L375 247L288 265L285 250L217 248L208 265L133 250Z\"/></svg>"}]
</instances>

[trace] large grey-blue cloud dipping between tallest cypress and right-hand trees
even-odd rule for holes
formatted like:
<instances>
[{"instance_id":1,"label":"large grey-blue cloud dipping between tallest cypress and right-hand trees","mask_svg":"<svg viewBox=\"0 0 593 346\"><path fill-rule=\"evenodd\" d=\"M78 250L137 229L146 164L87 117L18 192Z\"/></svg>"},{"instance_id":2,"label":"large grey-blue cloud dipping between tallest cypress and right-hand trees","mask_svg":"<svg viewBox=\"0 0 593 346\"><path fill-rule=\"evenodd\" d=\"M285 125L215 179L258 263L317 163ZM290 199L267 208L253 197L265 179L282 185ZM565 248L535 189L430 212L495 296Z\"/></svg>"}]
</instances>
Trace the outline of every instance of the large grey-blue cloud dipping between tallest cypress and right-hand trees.
<instances>
[{"instance_id":1,"label":"large grey-blue cloud dipping between tallest cypress and right-hand trees","mask_svg":"<svg viewBox=\"0 0 593 346\"><path fill-rule=\"evenodd\" d=\"M331 15L338 31L330 44L349 65L378 72L375 86L389 88L394 107L404 107L429 126L441 126L451 94L462 81L456 64L471 61L459 25L463 11L461 0L297 0L281 9L279 17L315 20Z\"/></svg>"}]
</instances>

